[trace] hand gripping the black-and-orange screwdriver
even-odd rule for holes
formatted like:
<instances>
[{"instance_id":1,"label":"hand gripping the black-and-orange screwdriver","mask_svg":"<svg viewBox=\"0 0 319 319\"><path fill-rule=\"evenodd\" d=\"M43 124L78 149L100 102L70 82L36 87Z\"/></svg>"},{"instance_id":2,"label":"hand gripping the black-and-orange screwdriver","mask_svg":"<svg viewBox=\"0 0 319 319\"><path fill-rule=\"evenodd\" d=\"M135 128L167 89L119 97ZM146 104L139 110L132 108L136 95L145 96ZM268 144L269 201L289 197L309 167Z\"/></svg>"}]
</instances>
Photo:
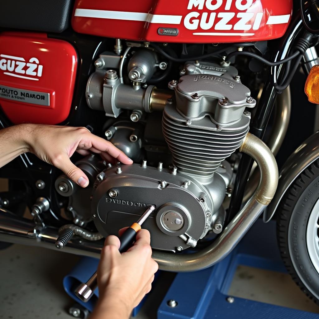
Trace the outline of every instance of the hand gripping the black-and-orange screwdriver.
<instances>
[{"instance_id":1,"label":"hand gripping the black-and-orange screwdriver","mask_svg":"<svg viewBox=\"0 0 319 319\"><path fill-rule=\"evenodd\" d=\"M125 229L122 228L119 234ZM129 316L145 294L150 292L158 264L151 257L150 233L146 229L138 231L134 246L127 252L121 254L119 248L120 240L116 236L108 236L98 267L98 309L108 308L110 311L112 304L117 304ZM122 318L120 315L118 317Z\"/></svg>"}]
</instances>

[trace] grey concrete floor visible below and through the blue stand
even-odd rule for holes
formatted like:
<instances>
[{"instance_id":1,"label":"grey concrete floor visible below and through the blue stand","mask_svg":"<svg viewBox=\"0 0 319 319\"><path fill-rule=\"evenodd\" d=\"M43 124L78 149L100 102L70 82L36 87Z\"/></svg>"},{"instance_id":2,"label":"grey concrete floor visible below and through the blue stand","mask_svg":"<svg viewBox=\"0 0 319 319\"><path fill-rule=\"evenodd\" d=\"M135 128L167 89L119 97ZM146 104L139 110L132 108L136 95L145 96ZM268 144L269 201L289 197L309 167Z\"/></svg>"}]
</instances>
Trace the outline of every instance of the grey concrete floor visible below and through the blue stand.
<instances>
[{"instance_id":1,"label":"grey concrete floor visible below and through the blue stand","mask_svg":"<svg viewBox=\"0 0 319 319\"><path fill-rule=\"evenodd\" d=\"M64 292L62 279L78 256L23 245L0 251L0 318L68 319L74 301ZM168 276L169 277L169 276ZM160 280L138 319L155 319L171 278ZM159 286L159 285L158 285ZM163 286L164 287L163 289ZM239 266L229 295L319 313L288 274Z\"/></svg>"}]
</instances>

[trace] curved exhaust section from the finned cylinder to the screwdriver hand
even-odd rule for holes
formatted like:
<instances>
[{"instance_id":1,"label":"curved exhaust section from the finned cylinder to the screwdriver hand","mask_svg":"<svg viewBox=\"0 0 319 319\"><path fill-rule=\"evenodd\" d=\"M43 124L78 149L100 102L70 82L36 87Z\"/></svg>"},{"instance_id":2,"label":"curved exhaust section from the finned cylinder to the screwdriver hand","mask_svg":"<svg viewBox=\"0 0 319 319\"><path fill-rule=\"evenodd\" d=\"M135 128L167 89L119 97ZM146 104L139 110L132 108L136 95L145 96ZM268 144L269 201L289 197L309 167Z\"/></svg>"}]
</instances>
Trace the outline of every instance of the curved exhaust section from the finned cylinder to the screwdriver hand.
<instances>
[{"instance_id":1,"label":"curved exhaust section from the finned cylinder to the screwdriver hand","mask_svg":"<svg viewBox=\"0 0 319 319\"><path fill-rule=\"evenodd\" d=\"M261 172L259 185L245 206L227 225L220 237L210 246L194 254L175 255L153 251L153 258L159 269L167 271L197 271L225 258L246 234L263 209L270 203L278 185L278 167L270 149L259 138L247 134L240 148L250 155Z\"/></svg>"}]
</instances>

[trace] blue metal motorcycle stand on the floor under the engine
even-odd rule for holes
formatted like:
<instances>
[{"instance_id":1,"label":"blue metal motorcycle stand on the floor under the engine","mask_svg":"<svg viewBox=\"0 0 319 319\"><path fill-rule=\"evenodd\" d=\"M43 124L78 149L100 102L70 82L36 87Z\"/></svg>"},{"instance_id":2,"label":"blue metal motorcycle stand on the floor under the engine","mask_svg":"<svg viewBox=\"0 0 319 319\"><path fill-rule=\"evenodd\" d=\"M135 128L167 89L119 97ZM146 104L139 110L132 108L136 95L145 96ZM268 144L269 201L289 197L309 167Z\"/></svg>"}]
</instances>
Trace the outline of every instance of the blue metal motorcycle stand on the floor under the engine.
<instances>
[{"instance_id":1,"label":"blue metal motorcycle stand on the floor under the engine","mask_svg":"<svg viewBox=\"0 0 319 319\"><path fill-rule=\"evenodd\" d=\"M221 262L201 271L177 273L157 310L157 319L319 319L318 314L232 298L227 294L238 265L286 273L277 247L275 227L275 222L263 224L259 219L237 248ZM85 304L73 290L89 278L97 264L97 259L84 257L63 279L65 291L89 311L94 307L98 291ZM157 284L160 283L155 280L154 285ZM147 296L134 309L133 316L137 315L145 300ZM169 303L169 300L173 301Z\"/></svg>"}]
</instances>

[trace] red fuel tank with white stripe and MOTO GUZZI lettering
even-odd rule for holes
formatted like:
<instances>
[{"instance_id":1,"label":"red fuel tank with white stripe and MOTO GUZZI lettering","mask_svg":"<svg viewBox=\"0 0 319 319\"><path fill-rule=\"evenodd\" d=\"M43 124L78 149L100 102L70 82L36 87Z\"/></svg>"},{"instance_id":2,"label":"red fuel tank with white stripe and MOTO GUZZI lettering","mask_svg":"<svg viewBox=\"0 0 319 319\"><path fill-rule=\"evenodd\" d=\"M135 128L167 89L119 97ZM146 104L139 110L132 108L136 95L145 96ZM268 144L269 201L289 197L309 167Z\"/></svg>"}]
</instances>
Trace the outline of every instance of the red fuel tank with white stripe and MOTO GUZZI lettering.
<instances>
[{"instance_id":1,"label":"red fuel tank with white stripe and MOTO GUZZI lettering","mask_svg":"<svg viewBox=\"0 0 319 319\"><path fill-rule=\"evenodd\" d=\"M281 37L293 0L76 0L79 33L135 41L217 43Z\"/></svg>"}]
</instances>

